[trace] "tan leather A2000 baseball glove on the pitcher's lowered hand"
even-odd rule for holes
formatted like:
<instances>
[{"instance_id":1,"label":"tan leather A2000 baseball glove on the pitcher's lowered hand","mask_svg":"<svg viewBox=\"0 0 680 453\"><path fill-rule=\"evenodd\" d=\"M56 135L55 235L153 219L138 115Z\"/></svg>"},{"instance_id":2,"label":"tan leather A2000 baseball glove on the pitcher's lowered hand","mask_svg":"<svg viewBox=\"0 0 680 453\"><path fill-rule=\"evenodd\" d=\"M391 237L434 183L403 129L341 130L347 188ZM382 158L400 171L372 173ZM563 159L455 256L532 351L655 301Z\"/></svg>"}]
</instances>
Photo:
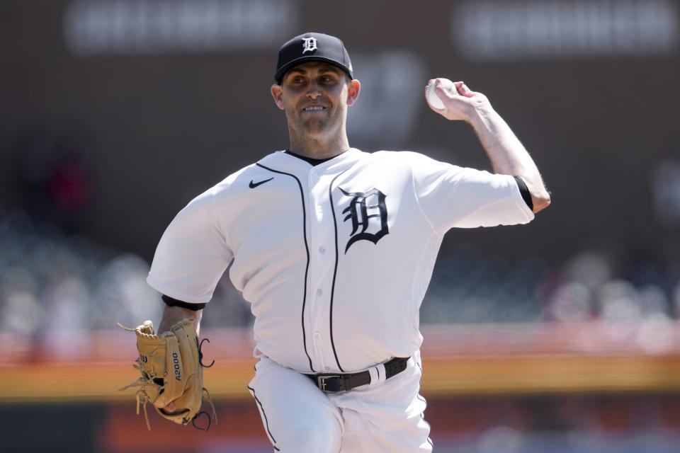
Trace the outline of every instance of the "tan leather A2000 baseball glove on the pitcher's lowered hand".
<instances>
[{"instance_id":1,"label":"tan leather A2000 baseball glove on the pitcher's lowered hand","mask_svg":"<svg viewBox=\"0 0 680 453\"><path fill-rule=\"evenodd\" d=\"M140 356L132 365L142 372L132 384L120 390L138 387L137 415L140 413L140 401L143 403L144 417L149 425L147 402L152 403L156 411L164 418L175 423L186 425L191 421L194 428L207 431L210 428L210 415L199 412L205 399L210 402L208 390L203 388L203 354L200 352L196 328L193 319L183 319L170 328L169 331L156 335L152 321L145 321L137 328L127 328L118 324L126 331L137 334L137 350ZM205 341L204 339L203 341ZM210 341L208 341L210 343ZM214 362L214 361L213 361ZM212 363L208 367L212 366ZM164 407L174 403L177 410L166 413ZM208 415L208 427L199 428L195 420L200 414ZM217 421L215 406L212 406L212 416Z\"/></svg>"}]
</instances>

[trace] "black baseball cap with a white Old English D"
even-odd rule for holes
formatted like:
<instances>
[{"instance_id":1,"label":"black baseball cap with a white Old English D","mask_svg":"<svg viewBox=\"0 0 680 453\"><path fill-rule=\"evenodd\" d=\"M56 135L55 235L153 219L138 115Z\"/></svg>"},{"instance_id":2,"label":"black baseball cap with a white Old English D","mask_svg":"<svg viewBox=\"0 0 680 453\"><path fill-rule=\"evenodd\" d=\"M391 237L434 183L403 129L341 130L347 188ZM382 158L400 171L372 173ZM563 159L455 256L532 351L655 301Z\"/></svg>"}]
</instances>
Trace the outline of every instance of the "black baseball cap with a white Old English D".
<instances>
[{"instance_id":1,"label":"black baseball cap with a white Old English D","mask_svg":"<svg viewBox=\"0 0 680 453\"><path fill-rule=\"evenodd\" d=\"M298 64L327 62L339 67L353 79L352 62L345 45L339 38L324 33L304 33L295 36L278 50L274 80L281 83L283 75Z\"/></svg>"}]
</instances>

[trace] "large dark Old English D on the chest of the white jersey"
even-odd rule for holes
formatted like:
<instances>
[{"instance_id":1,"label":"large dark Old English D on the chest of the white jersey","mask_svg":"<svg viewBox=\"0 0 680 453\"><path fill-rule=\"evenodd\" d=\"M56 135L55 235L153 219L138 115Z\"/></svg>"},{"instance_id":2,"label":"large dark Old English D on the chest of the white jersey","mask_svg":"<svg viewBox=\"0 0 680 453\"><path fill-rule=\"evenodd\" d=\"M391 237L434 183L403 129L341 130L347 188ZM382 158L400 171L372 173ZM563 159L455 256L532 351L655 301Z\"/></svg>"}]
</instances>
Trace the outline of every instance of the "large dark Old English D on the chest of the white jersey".
<instances>
[{"instance_id":1,"label":"large dark Old English D on the chest of the white jersey","mask_svg":"<svg viewBox=\"0 0 680 453\"><path fill-rule=\"evenodd\" d=\"M385 207L385 194L378 189L368 192L346 192L340 188L341 192L348 197L352 197L348 207L342 213L347 214L343 222L351 221L352 232L345 247L345 253L356 241L365 239L373 243L378 243L382 236L389 234L387 229L387 207Z\"/></svg>"}]
</instances>

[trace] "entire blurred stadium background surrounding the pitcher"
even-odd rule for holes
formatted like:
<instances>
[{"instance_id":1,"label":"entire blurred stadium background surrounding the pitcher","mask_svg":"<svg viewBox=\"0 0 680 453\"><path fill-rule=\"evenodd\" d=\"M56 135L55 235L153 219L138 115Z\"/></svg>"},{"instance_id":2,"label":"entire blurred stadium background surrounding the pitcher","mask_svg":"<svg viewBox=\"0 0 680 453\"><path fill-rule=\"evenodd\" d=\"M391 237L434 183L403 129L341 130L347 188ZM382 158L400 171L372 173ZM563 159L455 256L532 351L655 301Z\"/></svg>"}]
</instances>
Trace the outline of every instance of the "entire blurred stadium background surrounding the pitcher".
<instances>
[{"instance_id":1,"label":"entire blurred stadium background surrounding the pitcher","mask_svg":"<svg viewBox=\"0 0 680 453\"><path fill-rule=\"evenodd\" d=\"M673 0L0 2L0 449L268 452L245 389L251 314L224 278L202 333L219 424L134 414L129 333L191 198L287 145L278 45L340 36L350 139L488 168L422 96L486 93L554 205L450 231L421 308L438 452L680 451L680 3Z\"/></svg>"}]
</instances>

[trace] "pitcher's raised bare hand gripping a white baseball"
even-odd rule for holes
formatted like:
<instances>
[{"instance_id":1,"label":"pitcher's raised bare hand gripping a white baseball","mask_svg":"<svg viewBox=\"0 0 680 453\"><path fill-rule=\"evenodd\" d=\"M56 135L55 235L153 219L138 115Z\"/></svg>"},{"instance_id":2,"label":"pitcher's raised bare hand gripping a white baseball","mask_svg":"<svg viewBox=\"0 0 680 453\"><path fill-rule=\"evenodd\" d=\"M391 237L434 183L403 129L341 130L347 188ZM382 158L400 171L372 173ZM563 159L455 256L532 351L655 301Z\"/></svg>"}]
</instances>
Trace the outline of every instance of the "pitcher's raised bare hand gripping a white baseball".
<instances>
[{"instance_id":1,"label":"pitcher's raised bare hand gripping a white baseball","mask_svg":"<svg viewBox=\"0 0 680 453\"><path fill-rule=\"evenodd\" d=\"M425 96L432 110L453 121L469 121L475 108L489 102L482 93L470 90L465 82L442 78L428 81ZM437 103L435 98L441 102Z\"/></svg>"}]
</instances>

